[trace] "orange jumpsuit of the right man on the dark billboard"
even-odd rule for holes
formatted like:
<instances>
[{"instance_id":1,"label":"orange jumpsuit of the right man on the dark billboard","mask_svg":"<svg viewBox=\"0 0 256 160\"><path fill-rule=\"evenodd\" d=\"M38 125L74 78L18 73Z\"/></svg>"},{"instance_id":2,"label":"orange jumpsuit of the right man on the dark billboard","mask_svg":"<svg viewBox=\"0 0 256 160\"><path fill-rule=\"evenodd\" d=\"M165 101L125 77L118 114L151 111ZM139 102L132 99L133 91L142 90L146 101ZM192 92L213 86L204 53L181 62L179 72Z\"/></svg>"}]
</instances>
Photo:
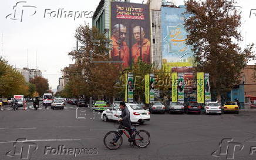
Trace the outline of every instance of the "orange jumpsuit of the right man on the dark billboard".
<instances>
[{"instance_id":1,"label":"orange jumpsuit of the right man on the dark billboard","mask_svg":"<svg viewBox=\"0 0 256 160\"><path fill-rule=\"evenodd\" d=\"M139 43L133 44L132 47L132 58L134 63L138 61L140 57L140 45ZM142 61L150 63L150 41L148 39L143 39L142 42Z\"/></svg>"}]
</instances>

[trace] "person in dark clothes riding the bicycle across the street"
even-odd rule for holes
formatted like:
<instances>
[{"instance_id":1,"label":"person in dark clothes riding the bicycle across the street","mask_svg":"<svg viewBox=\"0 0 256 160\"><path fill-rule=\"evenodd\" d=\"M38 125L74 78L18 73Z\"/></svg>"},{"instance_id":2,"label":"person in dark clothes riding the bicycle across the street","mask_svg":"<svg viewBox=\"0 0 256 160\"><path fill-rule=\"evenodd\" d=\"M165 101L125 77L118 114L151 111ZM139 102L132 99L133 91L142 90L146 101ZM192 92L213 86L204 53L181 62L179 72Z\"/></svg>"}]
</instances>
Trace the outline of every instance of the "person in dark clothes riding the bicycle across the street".
<instances>
[{"instance_id":1,"label":"person in dark clothes riding the bicycle across the street","mask_svg":"<svg viewBox=\"0 0 256 160\"><path fill-rule=\"evenodd\" d=\"M130 129L132 127L131 120L130 120L130 112L127 109L124 102L120 102L120 109L122 110L122 114L121 114L121 118L119 119L119 121L121 121L122 124L120 124L119 129L122 129L123 127L127 127L126 130L130 134L130 137L133 139L133 137L132 137L133 131ZM120 135L123 134L123 131L118 131L118 132ZM119 135L116 135L113 138L113 141L110 142L110 144L117 145L116 142L119 140L119 138L120 138ZM131 138L129 138L129 142L133 141Z\"/></svg>"}]
</instances>

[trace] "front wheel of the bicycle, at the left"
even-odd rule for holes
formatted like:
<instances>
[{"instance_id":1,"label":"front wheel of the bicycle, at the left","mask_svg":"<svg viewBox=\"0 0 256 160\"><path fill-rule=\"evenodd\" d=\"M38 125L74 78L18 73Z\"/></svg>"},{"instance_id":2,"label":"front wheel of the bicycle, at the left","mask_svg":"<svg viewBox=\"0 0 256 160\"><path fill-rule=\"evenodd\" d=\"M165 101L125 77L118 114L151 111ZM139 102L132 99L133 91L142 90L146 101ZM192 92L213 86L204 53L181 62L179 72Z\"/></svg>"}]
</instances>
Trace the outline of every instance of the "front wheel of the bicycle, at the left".
<instances>
[{"instance_id":1,"label":"front wheel of the bicycle, at the left","mask_svg":"<svg viewBox=\"0 0 256 160\"><path fill-rule=\"evenodd\" d=\"M111 144L110 142L113 141L114 137L119 136L119 140L116 142L116 145ZM123 138L122 136L117 133L116 131L110 131L107 133L104 137L104 144L107 148L111 150L116 150L118 149L123 143Z\"/></svg>"}]
</instances>

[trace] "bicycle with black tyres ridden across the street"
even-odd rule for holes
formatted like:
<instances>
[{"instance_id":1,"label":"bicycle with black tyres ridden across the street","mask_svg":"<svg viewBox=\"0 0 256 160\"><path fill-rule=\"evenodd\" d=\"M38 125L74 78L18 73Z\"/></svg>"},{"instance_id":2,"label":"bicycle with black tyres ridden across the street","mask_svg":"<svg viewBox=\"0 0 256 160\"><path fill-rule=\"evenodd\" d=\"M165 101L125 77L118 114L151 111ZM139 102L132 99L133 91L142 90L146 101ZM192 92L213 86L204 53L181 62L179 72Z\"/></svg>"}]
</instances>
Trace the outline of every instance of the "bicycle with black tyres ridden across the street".
<instances>
[{"instance_id":1,"label":"bicycle with black tyres ridden across the street","mask_svg":"<svg viewBox=\"0 0 256 160\"><path fill-rule=\"evenodd\" d=\"M123 138L122 135L119 134L118 131L122 131L124 133L124 135L126 135L127 138L129 138L130 140L130 135L126 133L127 129L130 129L133 131L133 140L129 141L130 142L130 146L134 146L136 145L139 148L146 148L147 145L150 144L150 134L149 132L147 132L146 130L136 130L136 126L137 125L132 125L134 126L134 128L127 128L122 126L122 124L120 123L121 128L118 128L116 131L109 131L105 137L104 137L104 144L105 146L110 149L110 150L116 150L118 148L121 147L121 145L123 144ZM113 141L113 138L119 136L119 140L116 142L116 145L111 144L110 142ZM133 144L132 144L133 143Z\"/></svg>"}]
</instances>

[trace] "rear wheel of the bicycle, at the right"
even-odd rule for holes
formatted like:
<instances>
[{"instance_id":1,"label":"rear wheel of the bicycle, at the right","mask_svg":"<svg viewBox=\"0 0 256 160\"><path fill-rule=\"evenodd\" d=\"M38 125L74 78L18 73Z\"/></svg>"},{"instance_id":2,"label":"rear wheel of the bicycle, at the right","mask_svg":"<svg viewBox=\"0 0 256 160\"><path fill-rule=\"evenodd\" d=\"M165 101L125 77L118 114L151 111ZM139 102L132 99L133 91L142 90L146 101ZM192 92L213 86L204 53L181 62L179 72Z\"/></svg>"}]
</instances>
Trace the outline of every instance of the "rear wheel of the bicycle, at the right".
<instances>
[{"instance_id":1,"label":"rear wheel of the bicycle, at the right","mask_svg":"<svg viewBox=\"0 0 256 160\"><path fill-rule=\"evenodd\" d=\"M136 131L134 142L139 148L146 148L150 143L150 134L145 130Z\"/></svg>"}]
</instances>

